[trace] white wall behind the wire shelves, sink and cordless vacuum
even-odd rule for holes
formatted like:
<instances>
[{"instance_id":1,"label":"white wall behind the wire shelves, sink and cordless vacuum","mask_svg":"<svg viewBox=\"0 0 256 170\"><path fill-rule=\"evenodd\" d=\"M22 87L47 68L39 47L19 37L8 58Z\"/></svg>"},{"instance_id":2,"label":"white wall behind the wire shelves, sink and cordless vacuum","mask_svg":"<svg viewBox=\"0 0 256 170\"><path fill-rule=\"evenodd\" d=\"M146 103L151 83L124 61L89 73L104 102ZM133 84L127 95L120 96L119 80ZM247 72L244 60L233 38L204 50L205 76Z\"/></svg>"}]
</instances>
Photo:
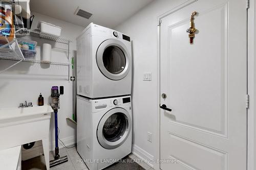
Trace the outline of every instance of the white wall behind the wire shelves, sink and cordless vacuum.
<instances>
[{"instance_id":1,"label":"white wall behind the wire shelves, sink and cordless vacuum","mask_svg":"<svg viewBox=\"0 0 256 170\"><path fill-rule=\"evenodd\" d=\"M32 29L36 29L38 20L53 23L62 27L61 36L72 40L70 45L71 55L75 56L76 37L83 30L82 27L73 25L62 20L51 18L39 13L33 13L35 19ZM52 61L70 63L67 58L68 46L66 44L54 43L49 40L31 38L38 42L37 59L40 59L40 47L42 43L52 44ZM13 61L0 60L0 71L14 63ZM0 108L17 107L19 103L25 100L37 105L38 95L41 92L45 99L45 105L51 102L50 94L52 86L64 86L64 94L60 96L60 109L58 112L58 127L60 130L59 138L65 144L74 144L76 142L76 127L67 122L66 117L72 118L72 82L68 81L67 66L37 64L30 62L21 62L11 69L0 74ZM71 70L70 70L71 71ZM36 131L36 127L34 129ZM54 115L51 118L50 128L50 149L54 148ZM59 147L61 145L59 144Z\"/></svg>"}]
</instances>

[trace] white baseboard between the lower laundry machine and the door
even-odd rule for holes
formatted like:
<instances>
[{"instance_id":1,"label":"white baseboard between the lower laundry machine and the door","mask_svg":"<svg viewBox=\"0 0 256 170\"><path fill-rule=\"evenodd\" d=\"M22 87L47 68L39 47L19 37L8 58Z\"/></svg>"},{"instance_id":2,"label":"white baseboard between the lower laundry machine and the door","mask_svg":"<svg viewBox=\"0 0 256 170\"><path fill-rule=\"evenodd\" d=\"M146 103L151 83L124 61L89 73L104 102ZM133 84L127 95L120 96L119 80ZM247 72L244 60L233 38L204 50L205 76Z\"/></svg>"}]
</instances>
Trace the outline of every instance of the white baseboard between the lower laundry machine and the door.
<instances>
[{"instance_id":1,"label":"white baseboard between the lower laundry machine and the door","mask_svg":"<svg viewBox=\"0 0 256 170\"><path fill-rule=\"evenodd\" d=\"M132 145L132 153L137 156L139 159L143 160L146 164L150 165L154 168L154 164L151 163L152 160L154 160L154 156L149 154L148 152L144 151L140 147L138 147L136 144Z\"/></svg>"}]
</instances>

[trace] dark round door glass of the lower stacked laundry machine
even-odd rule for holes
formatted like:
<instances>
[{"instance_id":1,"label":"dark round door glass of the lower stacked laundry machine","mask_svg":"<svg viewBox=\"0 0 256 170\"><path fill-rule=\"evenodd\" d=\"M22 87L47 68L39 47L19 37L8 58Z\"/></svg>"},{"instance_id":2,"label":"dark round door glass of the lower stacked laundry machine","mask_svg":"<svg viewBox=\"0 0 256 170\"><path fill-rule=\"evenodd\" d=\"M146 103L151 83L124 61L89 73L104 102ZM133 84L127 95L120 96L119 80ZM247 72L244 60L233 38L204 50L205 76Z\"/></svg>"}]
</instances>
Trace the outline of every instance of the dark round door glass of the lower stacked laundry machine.
<instances>
[{"instance_id":1,"label":"dark round door glass of the lower stacked laundry machine","mask_svg":"<svg viewBox=\"0 0 256 170\"><path fill-rule=\"evenodd\" d=\"M106 140L114 142L119 140L127 128L127 121L122 113L112 114L103 126L103 136Z\"/></svg>"}]
</instances>

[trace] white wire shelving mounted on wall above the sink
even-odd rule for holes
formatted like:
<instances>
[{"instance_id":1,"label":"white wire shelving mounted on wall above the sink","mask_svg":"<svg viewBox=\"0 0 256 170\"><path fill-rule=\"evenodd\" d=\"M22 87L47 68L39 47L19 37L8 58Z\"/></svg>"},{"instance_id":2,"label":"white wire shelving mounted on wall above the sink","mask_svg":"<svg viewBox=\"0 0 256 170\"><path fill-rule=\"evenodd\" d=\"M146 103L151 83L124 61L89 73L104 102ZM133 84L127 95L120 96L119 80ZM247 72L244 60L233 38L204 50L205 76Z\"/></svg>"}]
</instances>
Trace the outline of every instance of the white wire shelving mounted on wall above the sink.
<instances>
[{"instance_id":1,"label":"white wire shelving mounted on wall above the sink","mask_svg":"<svg viewBox=\"0 0 256 170\"><path fill-rule=\"evenodd\" d=\"M58 36L54 36L51 34L46 34L46 33L41 33L40 30L30 30L27 28L24 28L24 22L23 22L23 18L21 16L21 13L17 13L15 12L15 5L19 5L19 1L18 0L0 0L0 3L5 3L5 4L9 4L10 6L12 6L12 10L13 10L13 24L14 24L14 29L13 29L13 33L18 36L18 34L16 33L20 33L21 35L23 35L24 33L31 33L29 34L30 36L35 36L35 37L40 37L40 38L44 38L44 39L48 39L51 41L55 41L55 42L59 42L59 43L63 43L63 44L67 44L68 45L68 59L69 59L69 47L70 47L70 42L72 42L69 39L65 39L65 38L61 38ZM9 68L15 66L16 64L20 63L20 62L33 62L33 63L42 63L42 64L51 64L51 65L63 65L63 66L68 66L68 80L70 77L70 63L60 63L60 62L48 62L48 61L41 61L41 60L34 60L34 59L28 59L25 58L22 51L20 50L19 44L17 42L17 39L14 37L6 37L3 35L0 35L0 60L13 60L16 61L14 63L12 63L12 65L7 66L7 68L4 69L0 69L0 74L2 74L2 72L8 70Z\"/></svg>"}]
</instances>

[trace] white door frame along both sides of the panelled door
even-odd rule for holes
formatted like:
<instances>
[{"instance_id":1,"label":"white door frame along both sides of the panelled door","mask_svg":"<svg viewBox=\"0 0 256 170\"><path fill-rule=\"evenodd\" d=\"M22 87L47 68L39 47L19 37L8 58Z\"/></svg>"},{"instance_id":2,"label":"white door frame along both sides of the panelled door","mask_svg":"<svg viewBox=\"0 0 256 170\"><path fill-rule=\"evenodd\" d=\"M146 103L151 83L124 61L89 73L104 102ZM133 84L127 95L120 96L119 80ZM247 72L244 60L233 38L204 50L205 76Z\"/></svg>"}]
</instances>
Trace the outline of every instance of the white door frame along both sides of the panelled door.
<instances>
[{"instance_id":1,"label":"white door frame along both sides of the panelled door","mask_svg":"<svg viewBox=\"0 0 256 170\"><path fill-rule=\"evenodd\" d=\"M193 4L199 0L188 0L181 5L170 9L169 11L159 15L157 17L157 106L160 105L160 27L161 27L161 19L165 16L172 14L190 4ZM254 126L256 128L256 116L253 116L254 107L256 107L256 101L254 102L254 98L256 98L256 74L254 74L254 69L256 71L256 57L254 60L254 54L256 55L256 0L244 0L245 2L250 1L250 7L248 9L248 74L247 74L247 88L250 100L250 106L247 111L248 120L247 120L247 170L253 170L256 168L256 130L254 130ZM246 7L245 7L246 8ZM254 50L255 49L255 50ZM255 63L254 63L255 62ZM255 79L255 82L253 81ZM255 91L255 94L254 94ZM254 95L253 95L254 94ZM246 98L245 98L246 100ZM256 110L255 110L256 111ZM255 136L255 137L254 137ZM160 108L157 109L157 159L160 159ZM255 164L254 164L255 162ZM155 163L154 165L156 170L160 169L160 163Z\"/></svg>"}]
</instances>

